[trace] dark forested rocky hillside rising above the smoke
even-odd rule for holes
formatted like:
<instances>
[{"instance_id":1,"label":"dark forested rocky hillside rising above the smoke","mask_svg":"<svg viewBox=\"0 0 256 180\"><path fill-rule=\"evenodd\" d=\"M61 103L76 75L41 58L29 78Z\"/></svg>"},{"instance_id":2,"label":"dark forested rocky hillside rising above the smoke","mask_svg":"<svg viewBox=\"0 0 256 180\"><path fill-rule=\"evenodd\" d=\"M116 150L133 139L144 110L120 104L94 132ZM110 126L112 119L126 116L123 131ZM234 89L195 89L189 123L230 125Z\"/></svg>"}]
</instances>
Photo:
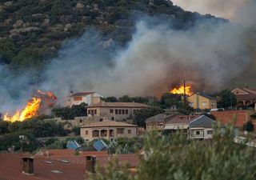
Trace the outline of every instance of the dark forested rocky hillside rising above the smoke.
<instances>
[{"instance_id":1,"label":"dark forested rocky hillside rising above the smoke","mask_svg":"<svg viewBox=\"0 0 256 180\"><path fill-rule=\"evenodd\" d=\"M136 15L137 14L137 15ZM129 42L138 14L161 15L176 29L199 18L167 0L0 0L0 61L10 67L41 67L66 38L94 27L107 40Z\"/></svg>"}]
</instances>

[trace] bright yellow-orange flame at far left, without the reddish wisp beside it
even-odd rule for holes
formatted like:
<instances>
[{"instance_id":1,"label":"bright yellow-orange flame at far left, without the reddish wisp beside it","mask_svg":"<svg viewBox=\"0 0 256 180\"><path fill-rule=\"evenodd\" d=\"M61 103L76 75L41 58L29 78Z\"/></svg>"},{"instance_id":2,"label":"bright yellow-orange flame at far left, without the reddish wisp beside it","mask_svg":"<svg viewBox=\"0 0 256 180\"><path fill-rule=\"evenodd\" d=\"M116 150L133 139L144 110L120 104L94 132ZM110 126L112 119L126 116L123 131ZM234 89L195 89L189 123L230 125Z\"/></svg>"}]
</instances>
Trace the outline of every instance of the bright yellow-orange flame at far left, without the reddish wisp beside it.
<instances>
[{"instance_id":1,"label":"bright yellow-orange flame at far left, without the reddish wisp beside it","mask_svg":"<svg viewBox=\"0 0 256 180\"><path fill-rule=\"evenodd\" d=\"M7 122L22 122L27 118L32 118L37 115L41 102L41 98L32 98L22 111L17 111L12 117L5 114L3 120Z\"/></svg>"}]
</instances>

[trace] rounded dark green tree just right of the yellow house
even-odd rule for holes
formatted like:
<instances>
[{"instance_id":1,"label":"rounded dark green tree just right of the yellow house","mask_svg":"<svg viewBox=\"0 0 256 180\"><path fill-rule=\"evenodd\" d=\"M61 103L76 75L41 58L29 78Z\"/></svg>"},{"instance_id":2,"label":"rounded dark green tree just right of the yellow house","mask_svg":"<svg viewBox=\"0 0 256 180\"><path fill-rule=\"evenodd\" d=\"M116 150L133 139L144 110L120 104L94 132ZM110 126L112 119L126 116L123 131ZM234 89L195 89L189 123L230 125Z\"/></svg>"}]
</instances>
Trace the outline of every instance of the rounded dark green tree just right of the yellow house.
<instances>
[{"instance_id":1,"label":"rounded dark green tree just right of the yellow house","mask_svg":"<svg viewBox=\"0 0 256 180\"><path fill-rule=\"evenodd\" d=\"M237 103L236 96L230 90L222 90L219 97L220 101L218 102L218 107L220 108L231 108Z\"/></svg>"}]
</instances>

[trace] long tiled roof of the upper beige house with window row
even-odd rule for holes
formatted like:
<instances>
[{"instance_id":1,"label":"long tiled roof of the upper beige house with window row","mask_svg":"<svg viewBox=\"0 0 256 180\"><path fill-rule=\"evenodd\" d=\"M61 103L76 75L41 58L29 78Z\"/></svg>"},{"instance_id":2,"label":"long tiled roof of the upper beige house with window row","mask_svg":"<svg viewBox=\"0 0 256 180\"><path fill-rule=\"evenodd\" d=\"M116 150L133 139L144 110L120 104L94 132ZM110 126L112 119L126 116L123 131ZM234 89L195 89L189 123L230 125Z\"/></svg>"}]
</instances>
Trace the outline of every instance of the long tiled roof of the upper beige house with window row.
<instances>
[{"instance_id":1,"label":"long tiled roof of the upper beige house with window row","mask_svg":"<svg viewBox=\"0 0 256 180\"><path fill-rule=\"evenodd\" d=\"M90 106L87 106L87 108L90 107L137 107L137 108L146 108L150 107L146 104L138 103L138 102L100 102L97 104L93 104Z\"/></svg>"}]
</instances>

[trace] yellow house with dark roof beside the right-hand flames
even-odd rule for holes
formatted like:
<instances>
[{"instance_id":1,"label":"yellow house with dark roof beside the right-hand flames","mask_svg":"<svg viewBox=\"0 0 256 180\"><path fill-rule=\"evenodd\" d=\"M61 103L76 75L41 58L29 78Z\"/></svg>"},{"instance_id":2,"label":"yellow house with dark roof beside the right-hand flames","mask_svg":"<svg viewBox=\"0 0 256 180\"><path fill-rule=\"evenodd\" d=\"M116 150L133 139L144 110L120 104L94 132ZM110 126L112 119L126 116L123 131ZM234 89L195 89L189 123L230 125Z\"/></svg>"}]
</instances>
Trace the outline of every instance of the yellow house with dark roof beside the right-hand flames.
<instances>
[{"instance_id":1,"label":"yellow house with dark roof beside the right-hand flames","mask_svg":"<svg viewBox=\"0 0 256 180\"><path fill-rule=\"evenodd\" d=\"M187 98L189 106L194 109L210 110L217 108L217 99L204 93L194 93Z\"/></svg>"}]
</instances>

